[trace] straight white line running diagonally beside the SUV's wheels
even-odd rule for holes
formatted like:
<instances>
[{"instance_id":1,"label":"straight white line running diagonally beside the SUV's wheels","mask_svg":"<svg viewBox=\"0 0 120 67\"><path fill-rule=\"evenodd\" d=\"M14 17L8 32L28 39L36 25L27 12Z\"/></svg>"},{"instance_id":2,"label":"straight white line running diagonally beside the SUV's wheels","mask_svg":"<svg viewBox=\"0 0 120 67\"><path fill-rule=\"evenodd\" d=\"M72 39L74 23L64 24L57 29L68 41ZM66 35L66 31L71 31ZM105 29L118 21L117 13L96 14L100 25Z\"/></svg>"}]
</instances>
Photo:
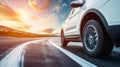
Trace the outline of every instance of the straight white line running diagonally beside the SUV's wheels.
<instances>
[{"instance_id":1,"label":"straight white line running diagonally beside the SUV's wheels","mask_svg":"<svg viewBox=\"0 0 120 67\"><path fill-rule=\"evenodd\" d=\"M51 40L49 40L49 42L55 46L56 48L58 48L60 51L62 51L64 54L66 54L68 57L70 57L72 60L74 60L76 63L78 63L79 65L81 65L82 67L97 67L96 65L84 60L83 58L71 53L68 50L65 50L59 46L57 46L55 43L53 43Z\"/></svg>"}]
</instances>

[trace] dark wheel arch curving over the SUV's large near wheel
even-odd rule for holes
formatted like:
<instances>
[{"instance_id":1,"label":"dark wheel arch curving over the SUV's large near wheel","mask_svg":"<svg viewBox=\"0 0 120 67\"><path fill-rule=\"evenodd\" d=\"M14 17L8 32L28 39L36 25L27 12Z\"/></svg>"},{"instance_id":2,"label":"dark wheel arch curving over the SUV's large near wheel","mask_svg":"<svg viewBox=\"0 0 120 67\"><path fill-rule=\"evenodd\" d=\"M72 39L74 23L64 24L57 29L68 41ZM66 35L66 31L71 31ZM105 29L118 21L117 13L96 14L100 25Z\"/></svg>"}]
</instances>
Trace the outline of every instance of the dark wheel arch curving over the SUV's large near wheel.
<instances>
[{"instance_id":1,"label":"dark wheel arch curving over the SUV's large near wheel","mask_svg":"<svg viewBox=\"0 0 120 67\"><path fill-rule=\"evenodd\" d=\"M96 19L97 21L99 21L99 24L102 27L103 33L106 35L105 37L111 40L109 33L108 33L109 32L108 23L104 15L96 9L90 9L83 15L83 18L80 24L81 37L83 35L82 31L83 31L84 25L89 19Z\"/></svg>"}]
</instances>

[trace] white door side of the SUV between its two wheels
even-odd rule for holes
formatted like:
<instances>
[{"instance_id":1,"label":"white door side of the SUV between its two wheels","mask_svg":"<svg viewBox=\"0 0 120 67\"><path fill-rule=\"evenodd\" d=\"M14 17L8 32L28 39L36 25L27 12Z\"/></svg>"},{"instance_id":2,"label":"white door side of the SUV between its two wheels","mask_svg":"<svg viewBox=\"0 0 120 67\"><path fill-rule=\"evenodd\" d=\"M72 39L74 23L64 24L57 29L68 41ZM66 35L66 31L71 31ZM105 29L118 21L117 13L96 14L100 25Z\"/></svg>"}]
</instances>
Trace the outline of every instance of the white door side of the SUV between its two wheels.
<instances>
[{"instance_id":1,"label":"white door side of the SUV between its two wheels","mask_svg":"<svg viewBox=\"0 0 120 67\"><path fill-rule=\"evenodd\" d=\"M77 23L79 23L78 14L80 12L80 8L73 8L70 12L69 18L66 20L66 32L65 35L77 35L79 32L76 30Z\"/></svg>"}]
</instances>

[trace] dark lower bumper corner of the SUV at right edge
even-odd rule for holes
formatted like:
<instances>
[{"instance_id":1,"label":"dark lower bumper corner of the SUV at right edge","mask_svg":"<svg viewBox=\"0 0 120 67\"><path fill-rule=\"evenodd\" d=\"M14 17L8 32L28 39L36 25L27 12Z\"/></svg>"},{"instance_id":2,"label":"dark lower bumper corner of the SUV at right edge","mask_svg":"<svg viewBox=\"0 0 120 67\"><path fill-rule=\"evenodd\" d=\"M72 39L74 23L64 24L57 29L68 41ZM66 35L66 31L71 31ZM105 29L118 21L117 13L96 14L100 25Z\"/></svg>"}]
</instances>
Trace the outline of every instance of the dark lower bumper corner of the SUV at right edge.
<instances>
[{"instance_id":1,"label":"dark lower bumper corner of the SUV at right edge","mask_svg":"<svg viewBox=\"0 0 120 67\"><path fill-rule=\"evenodd\" d=\"M120 46L120 25L109 26L109 36L117 46Z\"/></svg>"}]
</instances>

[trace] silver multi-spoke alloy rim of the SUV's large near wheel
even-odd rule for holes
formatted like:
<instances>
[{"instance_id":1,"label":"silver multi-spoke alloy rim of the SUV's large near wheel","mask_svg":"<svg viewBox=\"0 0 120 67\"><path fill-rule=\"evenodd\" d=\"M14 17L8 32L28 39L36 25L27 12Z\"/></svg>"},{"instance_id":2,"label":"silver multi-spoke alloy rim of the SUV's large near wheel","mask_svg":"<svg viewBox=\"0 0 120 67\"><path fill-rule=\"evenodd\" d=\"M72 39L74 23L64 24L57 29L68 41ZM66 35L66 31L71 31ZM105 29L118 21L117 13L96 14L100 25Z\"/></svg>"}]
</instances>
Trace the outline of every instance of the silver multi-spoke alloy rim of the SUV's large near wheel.
<instances>
[{"instance_id":1,"label":"silver multi-spoke alloy rim of the SUV's large near wheel","mask_svg":"<svg viewBox=\"0 0 120 67\"><path fill-rule=\"evenodd\" d=\"M93 25L85 29L84 44L88 51L94 51L98 45L98 32Z\"/></svg>"}]
</instances>

